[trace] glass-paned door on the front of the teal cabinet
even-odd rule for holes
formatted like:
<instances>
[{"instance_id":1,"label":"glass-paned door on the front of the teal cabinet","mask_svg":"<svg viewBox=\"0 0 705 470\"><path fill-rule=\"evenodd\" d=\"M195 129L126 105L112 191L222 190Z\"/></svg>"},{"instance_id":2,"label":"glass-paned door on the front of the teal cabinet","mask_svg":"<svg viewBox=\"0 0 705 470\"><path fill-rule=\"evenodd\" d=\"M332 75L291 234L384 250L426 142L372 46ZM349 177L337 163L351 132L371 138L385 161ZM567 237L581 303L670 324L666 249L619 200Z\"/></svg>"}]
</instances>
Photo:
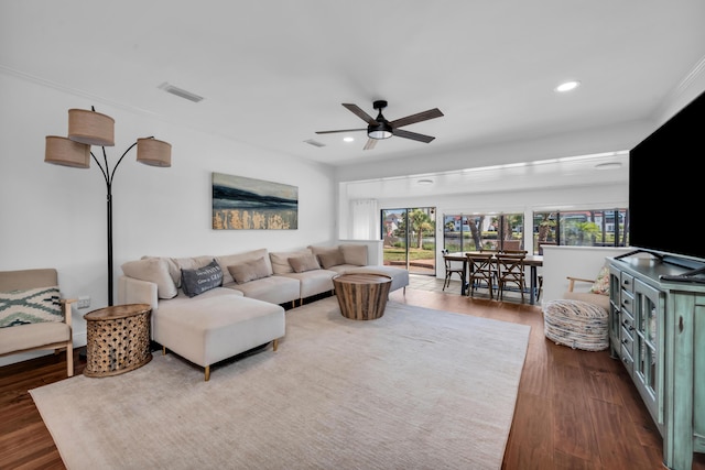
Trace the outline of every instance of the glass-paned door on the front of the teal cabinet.
<instances>
[{"instance_id":1,"label":"glass-paned door on the front of the teal cabinet","mask_svg":"<svg viewBox=\"0 0 705 470\"><path fill-rule=\"evenodd\" d=\"M663 424L664 294L634 280L633 378L651 416Z\"/></svg>"}]
</instances>

